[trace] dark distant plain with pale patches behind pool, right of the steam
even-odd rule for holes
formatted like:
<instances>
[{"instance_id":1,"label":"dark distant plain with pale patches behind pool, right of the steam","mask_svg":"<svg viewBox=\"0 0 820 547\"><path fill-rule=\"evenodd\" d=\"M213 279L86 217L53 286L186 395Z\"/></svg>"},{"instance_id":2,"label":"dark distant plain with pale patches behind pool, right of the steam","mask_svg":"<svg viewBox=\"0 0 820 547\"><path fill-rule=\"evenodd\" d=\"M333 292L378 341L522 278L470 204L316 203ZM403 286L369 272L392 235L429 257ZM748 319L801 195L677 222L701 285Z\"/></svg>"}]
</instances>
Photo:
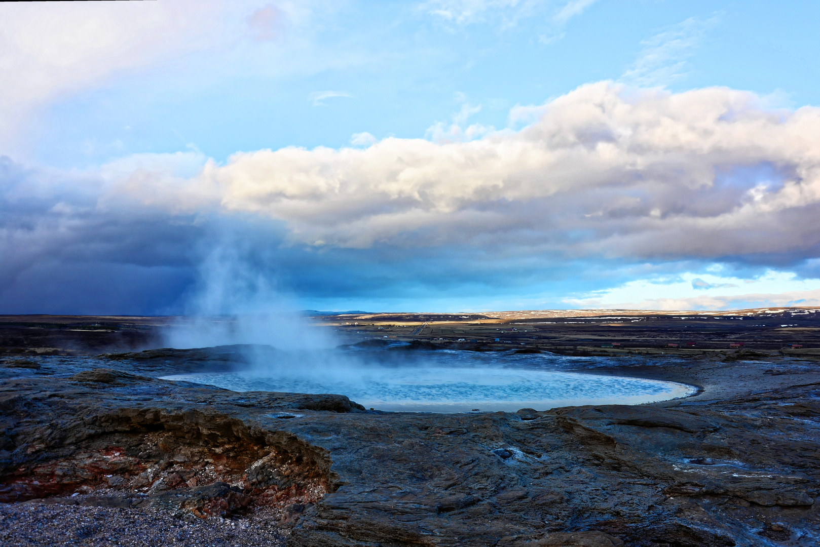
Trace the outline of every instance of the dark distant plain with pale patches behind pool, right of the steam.
<instances>
[{"instance_id":1,"label":"dark distant plain with pale patches behind pool, right of the steam","mask_svg":"<svg viewBox=\"0 0 820 547\"><path fill-rule=\"evenodd\" d=\"M316 316L340 335L429 340L460 349L544 349L567 355L678 354L732 346L820 357L820 308L735 312L561 310L488 314ZM461 340L461 341L459 341ZM615 344L615 347L603 347ZM672 346L670 346L672 344ZM791 344L803 347L792 349Z\"/></svg>"}]
</instances>

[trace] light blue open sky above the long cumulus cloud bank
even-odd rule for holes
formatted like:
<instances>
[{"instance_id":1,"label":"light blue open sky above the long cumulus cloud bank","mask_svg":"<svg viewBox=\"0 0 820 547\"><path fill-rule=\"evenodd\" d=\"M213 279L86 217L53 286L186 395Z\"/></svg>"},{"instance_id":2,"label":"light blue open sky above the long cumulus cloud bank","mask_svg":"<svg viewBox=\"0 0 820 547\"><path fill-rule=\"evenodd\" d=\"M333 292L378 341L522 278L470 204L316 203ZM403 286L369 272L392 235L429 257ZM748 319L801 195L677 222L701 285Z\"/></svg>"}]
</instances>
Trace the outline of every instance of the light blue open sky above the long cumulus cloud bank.
<instances>
[{"instance_id":1,"label":"light blue open sky above the long cumulus cloud bank","mask_svg":"<svg viewBox=\"0 0 820 547\"><path fill-rule=\"evenodd\" d=\"M254 40L247 25L230 43L114 70L43 105L21 135L26 156L74 167L188 144L217 161L240 150L336 148L365 131L424 137L463 104L481 107L469 122L501 128L515 105L599 80L818 103L816 3L578 3L588 5L555 21L566 3L307 2L307 21L283 9L271 39ZM315 99L328 92L339 95Z\"/></svg>"}]
</instances>

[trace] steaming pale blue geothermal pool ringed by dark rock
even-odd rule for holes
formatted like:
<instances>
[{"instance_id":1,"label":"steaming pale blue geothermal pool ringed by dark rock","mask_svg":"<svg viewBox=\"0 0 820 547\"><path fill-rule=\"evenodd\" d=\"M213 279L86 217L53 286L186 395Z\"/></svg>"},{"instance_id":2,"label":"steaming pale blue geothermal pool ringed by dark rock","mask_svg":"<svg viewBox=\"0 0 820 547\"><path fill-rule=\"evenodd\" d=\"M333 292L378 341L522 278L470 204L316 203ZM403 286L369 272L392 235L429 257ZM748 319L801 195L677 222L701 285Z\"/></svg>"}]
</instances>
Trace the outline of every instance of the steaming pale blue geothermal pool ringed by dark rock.
<instances>
[{"instance_id":1,"label":"steaming pale blue geothermal pool ringed by dark rock","mask_svg":"<svg viewBox=\"0 0 820 547\"><path fill-rule=\"evenodd\" d=\"M429 353L412 358L385 358L379 354L311 359L302 355L278 364L257 365L244 372L164 378L234 391L344 394L366 408L427 413L639 404L695 392L690 385L669 381L566 372L561 369L578 363L573 362L574 358L557 355ZM589 361L585 360L587 366Z\"/></svg>"}]
</instances>

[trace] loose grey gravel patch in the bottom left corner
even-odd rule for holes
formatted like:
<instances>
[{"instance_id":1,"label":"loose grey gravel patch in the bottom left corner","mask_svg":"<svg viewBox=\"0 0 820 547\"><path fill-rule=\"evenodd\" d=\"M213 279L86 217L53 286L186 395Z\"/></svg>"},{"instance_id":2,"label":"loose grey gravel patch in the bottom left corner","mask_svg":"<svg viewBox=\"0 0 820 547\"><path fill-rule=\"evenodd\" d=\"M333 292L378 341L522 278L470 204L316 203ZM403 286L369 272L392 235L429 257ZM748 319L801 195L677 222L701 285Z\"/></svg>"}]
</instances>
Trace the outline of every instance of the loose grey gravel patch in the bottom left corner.
<instances>
[{"instance_id":1,"label":"loose grey gravel patch in the bottom left corner","mask_svg":"<svg viewBox=\"0 0 820 547\"><path fill-rule=\"evenodd\" d=\"M189 512L43 504L0 504L0 545L191 545L276 547L287 531L274 514L199 519Z\"/></svg>"}]
</instances>

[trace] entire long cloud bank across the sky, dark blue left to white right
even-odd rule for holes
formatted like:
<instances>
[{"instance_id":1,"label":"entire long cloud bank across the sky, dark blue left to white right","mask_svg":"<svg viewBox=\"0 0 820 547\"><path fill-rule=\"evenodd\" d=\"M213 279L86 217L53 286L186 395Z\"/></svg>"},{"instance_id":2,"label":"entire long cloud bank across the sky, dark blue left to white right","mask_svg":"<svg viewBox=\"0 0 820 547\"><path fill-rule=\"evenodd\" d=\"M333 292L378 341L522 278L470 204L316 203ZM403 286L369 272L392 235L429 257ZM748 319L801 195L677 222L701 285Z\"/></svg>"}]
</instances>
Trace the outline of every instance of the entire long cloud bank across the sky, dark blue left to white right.
<instances>
[{"instance_id":1,"label":"entire long cloud bank across the sky, dark blue left to white right","mask_svg":"<svg viewBox=\"0 0 820 547\"><path fill-rule=\"evenodd\" d=\"M190 277L220 222L244 226L265 267L313 294L413 279L525 286L550 268L591 276L585 268L607 261L816 269L820 109L600 82L528 112L523 129L476 139L359 135L366 148L259 150L224 164L196 151L87 173L7 160L3 286L48 261ZM697 298L722 305L713 293Z\"/></svg>"}]
</instances>

